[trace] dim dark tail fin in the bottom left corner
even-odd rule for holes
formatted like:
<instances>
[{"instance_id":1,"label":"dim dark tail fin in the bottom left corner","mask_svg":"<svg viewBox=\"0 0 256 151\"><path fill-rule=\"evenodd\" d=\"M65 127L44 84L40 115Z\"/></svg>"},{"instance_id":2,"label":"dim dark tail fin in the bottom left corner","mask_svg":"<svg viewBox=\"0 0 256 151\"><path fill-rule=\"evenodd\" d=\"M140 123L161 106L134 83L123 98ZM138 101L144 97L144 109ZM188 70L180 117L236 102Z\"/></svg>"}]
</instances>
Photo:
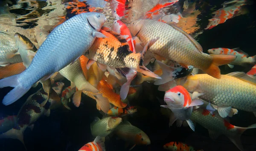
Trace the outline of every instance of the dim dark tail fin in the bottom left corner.
<instances>
[{"instance_id":1,"label":"dim dark tail fin in the bottom left corner","mask_svg":"<svg viewBox=\"0 0 256 151\"><path fill-rule=\"evenodd\" d=\"M24 145L24 147L26 149L26 146L25 146L25 143L23 140L23 130L21 130L21 129L17 130L17 129L12 128L9 131L0 135L0 139L5 139L5 138L19 139L20 142L22 142L22 144Z\"/></svg>"}]
</instances>

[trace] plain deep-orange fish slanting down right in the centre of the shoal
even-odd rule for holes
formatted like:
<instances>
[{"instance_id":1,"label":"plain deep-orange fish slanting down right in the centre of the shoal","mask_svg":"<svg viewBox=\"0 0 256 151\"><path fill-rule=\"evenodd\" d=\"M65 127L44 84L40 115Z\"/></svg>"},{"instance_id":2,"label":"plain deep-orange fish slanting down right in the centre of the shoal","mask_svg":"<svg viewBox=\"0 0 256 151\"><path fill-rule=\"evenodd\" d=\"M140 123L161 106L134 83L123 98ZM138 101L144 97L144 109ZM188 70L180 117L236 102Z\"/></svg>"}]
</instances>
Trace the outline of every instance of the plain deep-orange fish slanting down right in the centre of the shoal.
<instances>
[{"instance_id":1,"label":"plain deep-orange fish slanting down right in the centre of the shoal","mask_svg":"<svg viewBox=\"0 0 256 151\"><path fill-rule=\"evenodd\" d=\"M127 106L127 104L121 101L119 94L114 93L112 88L104 79L99 81L97 89L102 93L103 97L107 98L108 101L116 107L124 108Z\"/></svg>"}]
</instances>

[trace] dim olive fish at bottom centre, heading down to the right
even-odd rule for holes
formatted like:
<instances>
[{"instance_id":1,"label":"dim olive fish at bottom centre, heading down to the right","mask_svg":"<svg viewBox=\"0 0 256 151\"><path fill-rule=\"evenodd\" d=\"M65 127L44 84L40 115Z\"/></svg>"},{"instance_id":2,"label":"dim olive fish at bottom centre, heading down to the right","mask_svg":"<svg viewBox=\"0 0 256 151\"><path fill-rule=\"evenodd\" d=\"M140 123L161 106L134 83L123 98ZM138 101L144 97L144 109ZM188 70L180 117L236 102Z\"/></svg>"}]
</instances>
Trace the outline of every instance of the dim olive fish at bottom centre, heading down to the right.
<instances>
[{"instance_id":1,"label":"dim olive fish at bottom centre, heading down to the right","mask_svg":"<svg viewBox=\"0 0 256 151\"><path fill-rule=\"evenodd\" d=\"M119 138L133 145L129 150L134 148L135 145L151 144L148 135L139 128L131 125L131 123L128 121L125 121L122 124L118 125L115 128L114 133Z\"/></svg>"}]
</instances>

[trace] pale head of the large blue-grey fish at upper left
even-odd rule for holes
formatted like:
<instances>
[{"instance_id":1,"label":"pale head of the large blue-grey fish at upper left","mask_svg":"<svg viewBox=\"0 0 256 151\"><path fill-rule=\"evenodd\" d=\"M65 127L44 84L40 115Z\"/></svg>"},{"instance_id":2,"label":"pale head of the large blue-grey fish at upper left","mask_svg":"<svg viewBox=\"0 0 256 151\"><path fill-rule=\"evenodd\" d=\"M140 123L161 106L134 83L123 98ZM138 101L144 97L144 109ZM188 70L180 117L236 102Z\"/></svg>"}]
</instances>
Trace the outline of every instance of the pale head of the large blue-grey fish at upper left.
<instances>
[{"instance_id":1,"label":"pale head of the large blue-grey fish at upper left","mask_svg":"<svg viewBox=\"0 0 256 151\"><path fill-rule=\"evenodd\" d=\"M84 14L87 14L86 18L87 18L88 23L97 32L100 31L100 29L102 28L103 24L107 20L106 16L104 14L101 14L101 13L90 12L89 15L88 15L88 13L84 13Z\"/></svg>"}]
</instances>

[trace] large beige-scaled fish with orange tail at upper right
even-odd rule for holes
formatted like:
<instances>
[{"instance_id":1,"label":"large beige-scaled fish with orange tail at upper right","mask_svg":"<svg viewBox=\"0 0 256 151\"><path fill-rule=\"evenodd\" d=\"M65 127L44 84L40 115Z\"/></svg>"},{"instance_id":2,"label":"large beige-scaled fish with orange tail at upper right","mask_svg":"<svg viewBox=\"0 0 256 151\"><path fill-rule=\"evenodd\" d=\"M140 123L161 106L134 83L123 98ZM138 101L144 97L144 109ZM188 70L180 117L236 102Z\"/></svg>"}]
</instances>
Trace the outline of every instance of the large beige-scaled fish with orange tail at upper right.
<instances>
[{"instance_id":1,"label":"large beige-scaled fish with orange tail at upper right","mask_svg":"<svg viewBox=\"0 0 256 151\"><path fill-rule=\"evenodd\" d=\"M145 65L150 59L160 56L176 61L183 67L192 65L215 78L221 78L218 66L236 59L233 55L208 55L203 53L201 45L182 29L169 23L155 20L136 20L128 28L132 35L140 38L143 44L160 37L144 56Z\"/></svg>"}]
</instances>

